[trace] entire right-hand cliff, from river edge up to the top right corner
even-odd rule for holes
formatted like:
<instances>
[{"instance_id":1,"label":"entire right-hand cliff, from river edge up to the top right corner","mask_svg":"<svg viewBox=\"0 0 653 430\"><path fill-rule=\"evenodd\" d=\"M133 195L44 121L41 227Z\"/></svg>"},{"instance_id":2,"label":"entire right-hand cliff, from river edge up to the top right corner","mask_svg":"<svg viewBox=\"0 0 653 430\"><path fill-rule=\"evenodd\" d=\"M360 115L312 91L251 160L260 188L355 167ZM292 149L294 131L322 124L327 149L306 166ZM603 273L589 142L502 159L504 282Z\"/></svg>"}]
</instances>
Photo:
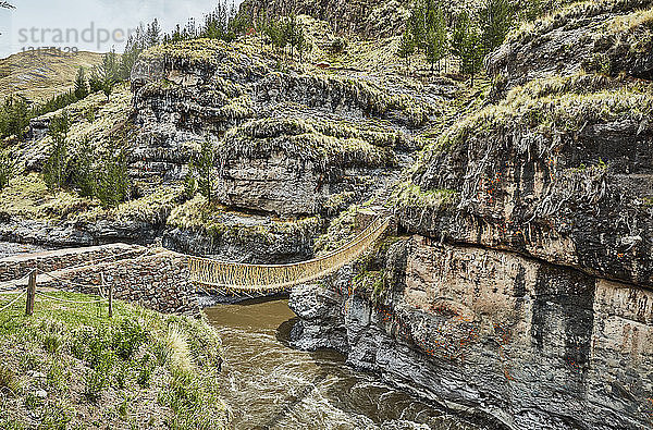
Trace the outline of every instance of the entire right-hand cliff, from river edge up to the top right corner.
<instances>
[{"instance_id":1,"label":"entire right-hand cliff, from river edge up to the top right corner","mask_svg":"<svg viewBox=\"0 0 653 430\"><path fill-rule=\"evenodd\" d=\"M397 186L402 238L293 292L294 342L506 428L650 428L650 3L552 16Z\"/></svg>"}]
</instances>

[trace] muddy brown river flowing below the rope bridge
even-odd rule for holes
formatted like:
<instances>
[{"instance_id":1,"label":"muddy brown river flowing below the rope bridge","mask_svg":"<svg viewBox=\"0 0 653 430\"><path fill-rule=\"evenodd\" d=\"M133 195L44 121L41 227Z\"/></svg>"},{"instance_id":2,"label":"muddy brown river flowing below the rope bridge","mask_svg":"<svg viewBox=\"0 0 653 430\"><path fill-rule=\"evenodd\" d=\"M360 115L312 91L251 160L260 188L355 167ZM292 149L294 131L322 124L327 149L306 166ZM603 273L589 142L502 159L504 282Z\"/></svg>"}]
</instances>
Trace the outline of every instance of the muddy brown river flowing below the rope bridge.
<instances>
[{"instance_id":1,"label":"muddy brown river flowing below the rope bridge","mask_svg":"<svg viewBox=\"0 0 653 430\"><path fill-rule=\"evenodd\" d=\"M336 353L291 348L287 300L221 305L206 314L222 336L220 383L234 429L477 429L353 370Z\"/></svg>"}]
</instances>

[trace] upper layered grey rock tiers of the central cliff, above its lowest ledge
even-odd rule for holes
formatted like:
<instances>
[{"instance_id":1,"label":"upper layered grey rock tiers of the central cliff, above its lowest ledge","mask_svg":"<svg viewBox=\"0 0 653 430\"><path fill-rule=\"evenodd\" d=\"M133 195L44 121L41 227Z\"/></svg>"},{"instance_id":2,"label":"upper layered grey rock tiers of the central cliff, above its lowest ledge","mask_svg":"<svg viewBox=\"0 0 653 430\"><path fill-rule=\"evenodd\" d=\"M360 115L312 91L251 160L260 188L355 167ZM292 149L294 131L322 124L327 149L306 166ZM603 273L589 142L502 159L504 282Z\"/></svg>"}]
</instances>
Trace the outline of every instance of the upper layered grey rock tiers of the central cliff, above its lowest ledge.
<instances>
[{"instance_id":1,"label":"upper layered grey rock tiers of the central cliff, above its lowest ledge","mask_svg":"<svg viewBox=\"0 0 653 430\"><path fill-rule=\"evenodd\" d=\"M181 180L185 150L212 139L220 202L282 217L324 214L381 188L374 180L408 146L402 128L429 113L422 103L420 113L407 114L406 99L372 84L272 67L244 47L206 40L144 56L132 76L141 127L133 167Z\"/></svg>"}]
</instances>

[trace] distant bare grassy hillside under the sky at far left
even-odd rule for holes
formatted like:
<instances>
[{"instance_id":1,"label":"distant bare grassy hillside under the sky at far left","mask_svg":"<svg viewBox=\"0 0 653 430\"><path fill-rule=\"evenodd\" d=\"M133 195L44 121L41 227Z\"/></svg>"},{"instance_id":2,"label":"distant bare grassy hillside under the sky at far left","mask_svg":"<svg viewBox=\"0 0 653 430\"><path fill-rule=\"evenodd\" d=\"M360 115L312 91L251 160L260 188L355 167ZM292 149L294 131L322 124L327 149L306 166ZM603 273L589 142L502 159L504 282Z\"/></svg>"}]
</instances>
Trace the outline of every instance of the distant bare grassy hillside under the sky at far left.
<instances>
[{"instance_id":1,"label":"distant bare grassy hillside under the sky at far left","mask_svg":"<svg viewBox=\"0 0 653 430\"><path fill-rule=\"evenodd\" d=\"M69 90L79 66L88 69L101 62L102 54L96 52L15 53L0 60L0 100L12 94L34 101L46 100Z\"/></svg>"}]
</instances>

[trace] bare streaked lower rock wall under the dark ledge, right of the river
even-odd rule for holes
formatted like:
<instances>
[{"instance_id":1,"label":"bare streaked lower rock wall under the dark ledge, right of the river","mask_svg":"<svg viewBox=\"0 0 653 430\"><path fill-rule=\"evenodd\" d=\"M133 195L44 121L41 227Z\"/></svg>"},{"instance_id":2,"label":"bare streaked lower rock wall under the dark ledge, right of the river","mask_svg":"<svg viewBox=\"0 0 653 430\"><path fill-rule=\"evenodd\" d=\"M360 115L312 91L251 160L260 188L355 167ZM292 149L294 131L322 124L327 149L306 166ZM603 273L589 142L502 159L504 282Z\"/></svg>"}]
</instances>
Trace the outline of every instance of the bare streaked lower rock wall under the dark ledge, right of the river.
<instances>
[{"instance_id":1,"label":"bare streaked lower rock wall under the dark ledge, right of the river","mask_svg":"<svg viewBox=\"0 0 653 430\"><path fill-rule=\"evenodd\" d=\"M293 291L296 345L507 428L651 425L653 292L422 236L384 270L395 282L377 302L352 291L350 268Z\"/></svg>"}]
</instances>

